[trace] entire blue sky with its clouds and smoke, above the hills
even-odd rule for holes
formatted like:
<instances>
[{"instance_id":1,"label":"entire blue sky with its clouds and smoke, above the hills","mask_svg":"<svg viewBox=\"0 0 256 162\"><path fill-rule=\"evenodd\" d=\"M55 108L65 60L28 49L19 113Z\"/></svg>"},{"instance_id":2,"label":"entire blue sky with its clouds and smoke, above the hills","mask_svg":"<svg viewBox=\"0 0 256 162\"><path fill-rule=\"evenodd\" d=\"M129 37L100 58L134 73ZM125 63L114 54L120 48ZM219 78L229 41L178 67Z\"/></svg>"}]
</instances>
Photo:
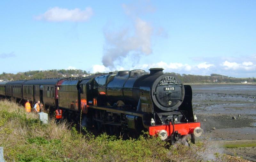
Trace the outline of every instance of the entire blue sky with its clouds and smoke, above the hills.
<instances>
[{"instance_id":1,"label":"entire blue sky with its clouds and smoke, above the hills","mask_svg":"<svg viewBox=\"0 0 256 162\"><path fill-rule=\"evenodd\" d=\"M235 0L0 1L0 69L256 77L255 8Z\"/></svg>"}]
</instances>

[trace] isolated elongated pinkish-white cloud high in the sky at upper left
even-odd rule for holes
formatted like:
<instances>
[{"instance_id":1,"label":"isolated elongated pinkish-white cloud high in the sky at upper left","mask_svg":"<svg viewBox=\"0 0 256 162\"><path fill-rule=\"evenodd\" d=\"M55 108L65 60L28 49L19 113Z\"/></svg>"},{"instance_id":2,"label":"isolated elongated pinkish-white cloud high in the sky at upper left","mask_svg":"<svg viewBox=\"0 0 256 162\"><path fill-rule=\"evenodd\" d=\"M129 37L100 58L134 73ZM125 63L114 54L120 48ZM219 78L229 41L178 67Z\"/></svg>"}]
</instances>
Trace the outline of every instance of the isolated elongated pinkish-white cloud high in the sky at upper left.
<instances>
[{"instance_id":1,"label":"isolated elongated pinkish-white cloud high in the sky at upper left","mask_svg":"<svg viewBox=\"0 0 256 162\"><path fill-rule=\"evenodd\" d=\"M54 7L46 11L44 14L36 16L36 20L45 20L50 22L83 22L92 17L93 11L91 7L86 7L85 10L75 8L68 10L65 8Z\"/></svg>"}]
</instances>

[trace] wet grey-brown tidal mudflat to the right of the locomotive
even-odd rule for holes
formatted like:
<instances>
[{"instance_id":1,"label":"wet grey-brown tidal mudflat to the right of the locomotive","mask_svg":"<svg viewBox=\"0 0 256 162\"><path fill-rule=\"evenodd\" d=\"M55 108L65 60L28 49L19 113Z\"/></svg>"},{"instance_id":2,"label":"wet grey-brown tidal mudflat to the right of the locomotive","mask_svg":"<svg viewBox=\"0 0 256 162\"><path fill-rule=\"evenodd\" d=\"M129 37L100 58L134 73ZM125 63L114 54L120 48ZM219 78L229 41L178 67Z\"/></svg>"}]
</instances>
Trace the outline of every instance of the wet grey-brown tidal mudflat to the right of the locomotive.
<instances>
[{"instance_id":1,"label":"wet grey-brown tidal mudflat to the right of the locomotive","mask_svg":"<svg viewBox=\"0 0 256 162\"><path fill-rule=\"evenodd\" d=\"M256 85L192 84L204 136L223 151L256 158ZM229 145L228 145L229 144Z\"/></svg>"}]
</instances>

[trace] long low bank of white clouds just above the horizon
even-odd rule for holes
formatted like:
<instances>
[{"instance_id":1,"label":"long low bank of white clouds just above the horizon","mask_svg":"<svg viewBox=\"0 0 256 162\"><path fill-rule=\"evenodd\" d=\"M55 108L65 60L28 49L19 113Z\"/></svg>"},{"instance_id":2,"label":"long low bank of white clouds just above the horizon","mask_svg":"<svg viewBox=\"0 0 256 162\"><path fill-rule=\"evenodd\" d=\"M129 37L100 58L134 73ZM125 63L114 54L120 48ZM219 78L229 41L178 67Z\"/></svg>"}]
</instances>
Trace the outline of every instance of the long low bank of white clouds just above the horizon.
<instances>
[{"instance_id":1,"label":"long low bank of white clouds just above the horizon","mask_svg":"<svg viewBox=\"0 0 256 162\"><path fill-rule=\"evenodd\" d=\"M202 62L199 64L189 65L180 62L156 62L149 64L137 63L135 66L130 66L130 64L120 64L115 66L115 68L105 67L104 65L94 65L92 72L110 72L115 70L134 70L142 69L148 71L150 68L164 68L164 72L174 72L179 74L194 74L194 75L210 75L210 74L222 74L233 77L252 77L255 76L256 65L252 62L229 62L225 61L221 65L210 64L207 62Z\"/></svg>"}]
</instances>

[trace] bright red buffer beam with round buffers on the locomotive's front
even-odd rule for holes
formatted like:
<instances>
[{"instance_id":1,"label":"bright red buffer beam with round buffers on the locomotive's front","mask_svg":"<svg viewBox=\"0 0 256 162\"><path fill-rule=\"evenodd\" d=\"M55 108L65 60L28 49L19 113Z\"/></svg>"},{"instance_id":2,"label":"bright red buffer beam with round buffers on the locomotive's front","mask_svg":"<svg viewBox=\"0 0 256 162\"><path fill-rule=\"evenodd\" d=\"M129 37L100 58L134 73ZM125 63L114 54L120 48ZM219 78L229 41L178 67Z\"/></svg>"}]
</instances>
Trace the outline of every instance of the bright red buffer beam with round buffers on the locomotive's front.
<instances>
[{"instance_id":1,"label":"bright red buffer beam with round buffers on the locomotive's front","mask_svg":"<svg viewBox=\"0 0 256 162\"><path fill-rule=\"evenodd\" d=\"M200 122L174 124L174 131L178 131L180 135L195 134L194 130L196 130L196 133L198 133L198 129L202 131L200 128ZM170 122L170 124L149 126L149 135L151 136L158 136L158 134L163 131L166 131L167 136L170 137L173 134L172 123Z\"/></svg>"}]
</instances>

